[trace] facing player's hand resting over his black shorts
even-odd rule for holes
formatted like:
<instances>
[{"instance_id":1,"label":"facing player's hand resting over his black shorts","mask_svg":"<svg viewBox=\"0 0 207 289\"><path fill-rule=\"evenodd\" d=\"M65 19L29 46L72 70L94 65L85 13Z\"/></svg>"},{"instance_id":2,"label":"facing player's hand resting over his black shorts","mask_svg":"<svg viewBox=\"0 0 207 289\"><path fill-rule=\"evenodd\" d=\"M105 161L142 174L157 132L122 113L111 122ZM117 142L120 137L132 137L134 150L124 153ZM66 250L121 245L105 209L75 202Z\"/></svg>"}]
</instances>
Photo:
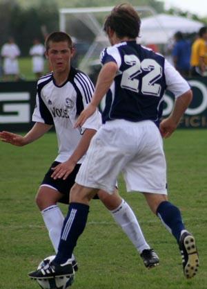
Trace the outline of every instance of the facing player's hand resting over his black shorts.
<instances>
[{"instance_id":1,"label":"facing player's hand resting over his black shorts","mask_svg":"<svg viewBox=\"0 0 207 289\"><path fill-rule=\"evenodd\" d=\"M52 170L54 171L51 177L53 177L53 179L66 179L68 175L70 175L72 170L75 168L75 165L76 164L70 160L64 161L63 163L58 164L57 166L52 168Z\"/></svg>"}]
</instances>

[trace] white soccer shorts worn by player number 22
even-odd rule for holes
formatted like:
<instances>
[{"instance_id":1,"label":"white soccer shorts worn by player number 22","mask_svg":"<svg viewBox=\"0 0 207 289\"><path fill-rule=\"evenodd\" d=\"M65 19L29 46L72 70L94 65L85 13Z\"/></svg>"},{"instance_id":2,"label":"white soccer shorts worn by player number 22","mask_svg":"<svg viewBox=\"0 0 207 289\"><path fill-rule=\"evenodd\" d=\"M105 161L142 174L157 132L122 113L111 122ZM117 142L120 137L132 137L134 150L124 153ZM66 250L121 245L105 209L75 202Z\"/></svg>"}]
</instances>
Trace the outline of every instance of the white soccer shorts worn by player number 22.
<instances>
[{"instance_id":1,"label":"white soccer shorts worn by player number 22","mask_svg":"<svg viewBox=\"0 0 207 289\"><path fill-rule=\"evenodd\" d=\"M112 194L121 172L127 191L167 194L163 143L152 121L115 120L102 125L75 182Z\"/></svg>"}]
</instances>

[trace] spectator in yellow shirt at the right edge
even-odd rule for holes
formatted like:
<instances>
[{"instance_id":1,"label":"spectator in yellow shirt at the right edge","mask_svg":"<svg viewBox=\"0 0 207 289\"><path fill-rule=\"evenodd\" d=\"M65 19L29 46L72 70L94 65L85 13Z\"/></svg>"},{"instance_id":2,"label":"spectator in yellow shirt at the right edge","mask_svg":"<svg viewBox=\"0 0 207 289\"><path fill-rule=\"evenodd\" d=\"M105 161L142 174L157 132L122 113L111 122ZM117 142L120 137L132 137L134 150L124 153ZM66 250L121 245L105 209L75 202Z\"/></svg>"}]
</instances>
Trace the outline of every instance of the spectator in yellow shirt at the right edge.
<instances>
[{"instance_id":1,"label":"spectator in yellow shirt at the right edge","mask_svg":"<svg viewBox=\"0 0 207 289\"><path fill-rule=\"evenodd\" d=\"M199 29L191 51L191 76L207 76L207 26Z\"/></svg>"}]
</instances>

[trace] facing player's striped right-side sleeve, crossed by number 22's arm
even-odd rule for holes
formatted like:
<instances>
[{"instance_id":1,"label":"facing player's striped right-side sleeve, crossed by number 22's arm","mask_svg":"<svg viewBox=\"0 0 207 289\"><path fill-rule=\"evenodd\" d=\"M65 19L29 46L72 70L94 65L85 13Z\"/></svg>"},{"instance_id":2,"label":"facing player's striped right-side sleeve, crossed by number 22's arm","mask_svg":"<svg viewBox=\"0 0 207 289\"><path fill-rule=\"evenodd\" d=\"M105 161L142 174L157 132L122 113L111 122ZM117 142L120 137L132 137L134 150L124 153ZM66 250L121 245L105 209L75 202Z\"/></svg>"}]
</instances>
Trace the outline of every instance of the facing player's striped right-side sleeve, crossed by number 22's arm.
<instances>
[{"instance_id":1,"label":"facing player's striped right-side sleeve, crossed by number 22's arm","mask_svg":"<svg viewBox=\"0 0 207 289\"><path fill-rule=\"evenodd\" d=\"M83 104L83 107L81 107L81 110L83 110L90 103L90 100L92 98L95 88L90 78L88 78L88 76L86 76L86 74L84 73L77 73L77 75L75 76L75 84L77 85L77 88L79 89L79 92L80 92L80 97L82 100L81 103ZM78 110L78 107L77 107L77 110ZM81 111L79 111L79 113L80 112ZM85 130L86 128L99 130L100 126L101 126L101 114L97 110L83 124L82 130Z\"/></svg>"}]
</instances>

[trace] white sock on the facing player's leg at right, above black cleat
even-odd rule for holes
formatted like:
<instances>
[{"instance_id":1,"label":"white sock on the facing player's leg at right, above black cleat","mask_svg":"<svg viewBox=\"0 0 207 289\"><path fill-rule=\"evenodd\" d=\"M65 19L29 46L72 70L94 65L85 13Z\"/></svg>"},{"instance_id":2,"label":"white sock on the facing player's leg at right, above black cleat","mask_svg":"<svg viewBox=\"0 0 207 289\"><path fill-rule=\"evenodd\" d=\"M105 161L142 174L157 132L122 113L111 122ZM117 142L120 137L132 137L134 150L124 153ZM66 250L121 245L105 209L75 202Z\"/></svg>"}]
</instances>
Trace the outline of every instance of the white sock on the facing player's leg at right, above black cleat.
<instances>
[{"instance_id":1,"label":"white sock on the facing player's leg at right, above black cleat","mask_svg":"<svg viewBox=\"0 0 207 289\"><path fill-rule=\"evenodd\" d=\"M128 238L135 245L139 254L141 254L144 249L150 249L150 246L146 243L141 228L139 227L139 222L137 221L135 213L129 207L127 202L122 200L119 207L110 212L117 224L121 226Z\"/></svg>"}]
</instances>

